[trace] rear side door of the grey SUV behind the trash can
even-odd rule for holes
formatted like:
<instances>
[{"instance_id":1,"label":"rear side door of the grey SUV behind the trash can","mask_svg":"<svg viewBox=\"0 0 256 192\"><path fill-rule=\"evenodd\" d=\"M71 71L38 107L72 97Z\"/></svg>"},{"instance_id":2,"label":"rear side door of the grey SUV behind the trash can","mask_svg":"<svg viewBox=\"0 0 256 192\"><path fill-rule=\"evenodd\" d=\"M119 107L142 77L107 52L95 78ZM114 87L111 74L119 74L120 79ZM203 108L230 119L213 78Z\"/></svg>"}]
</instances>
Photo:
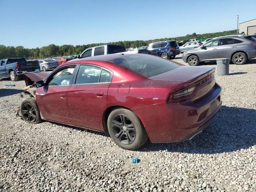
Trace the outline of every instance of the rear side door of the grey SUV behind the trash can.
<instances>
[{"instance_id":1,"label":"rear side door of the grey SUV behind the trash can","mask_svg":"<svg viewBox=\"0 0 256 192\"><path fill-rule=\"evenodd\" d=\"M242 41L233 38L221 38L218 46L218 58L231 58L231 55L236 52L237 44Z\"/></svg>"}]
</instances>

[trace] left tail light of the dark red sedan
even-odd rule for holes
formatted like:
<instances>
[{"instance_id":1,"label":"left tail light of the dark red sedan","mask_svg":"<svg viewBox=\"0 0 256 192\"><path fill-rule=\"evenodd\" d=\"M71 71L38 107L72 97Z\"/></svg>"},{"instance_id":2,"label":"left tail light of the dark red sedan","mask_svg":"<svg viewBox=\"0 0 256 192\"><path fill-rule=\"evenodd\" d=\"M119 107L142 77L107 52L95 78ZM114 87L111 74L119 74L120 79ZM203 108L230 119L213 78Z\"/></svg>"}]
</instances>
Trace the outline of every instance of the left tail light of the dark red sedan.
<instances>
[{"instance_id":1,"label":"left tail light of the dark red sedan","mask_svg":"<svg viewBox=\"0 0 256 192\"><path fill-rule=\"evenodd\" d=\"M183 89L178 92L174 92L174 93L170 94L168 102L177 103L177 102L181 102L181 101L190 99L189 95L193 93L195 88L196 88L196 86L186 88L185 90Z\"/></svg>"}]
</instances>

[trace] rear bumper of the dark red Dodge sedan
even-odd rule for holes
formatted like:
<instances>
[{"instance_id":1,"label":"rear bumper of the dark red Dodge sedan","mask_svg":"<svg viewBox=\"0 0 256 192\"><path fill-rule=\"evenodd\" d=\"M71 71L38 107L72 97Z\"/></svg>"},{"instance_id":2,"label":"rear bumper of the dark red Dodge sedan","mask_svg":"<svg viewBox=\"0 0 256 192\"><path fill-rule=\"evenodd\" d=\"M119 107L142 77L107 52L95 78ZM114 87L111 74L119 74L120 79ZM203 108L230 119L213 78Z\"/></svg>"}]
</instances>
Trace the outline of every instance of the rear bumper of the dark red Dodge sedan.
<instances>
[{"instance_id":1,"label":"rear bumper of the dark red Dodge sedan","mask_svg":"<svg viewBox=\"0 0 256 192\"><path fill-rule=\"evenodd\" d=\"M208 126L220 111L221 90L216 84L206 96L193 102L164 102L133 111L141 118L152 143L189 140Z\"/></svg>"}]
</instances>

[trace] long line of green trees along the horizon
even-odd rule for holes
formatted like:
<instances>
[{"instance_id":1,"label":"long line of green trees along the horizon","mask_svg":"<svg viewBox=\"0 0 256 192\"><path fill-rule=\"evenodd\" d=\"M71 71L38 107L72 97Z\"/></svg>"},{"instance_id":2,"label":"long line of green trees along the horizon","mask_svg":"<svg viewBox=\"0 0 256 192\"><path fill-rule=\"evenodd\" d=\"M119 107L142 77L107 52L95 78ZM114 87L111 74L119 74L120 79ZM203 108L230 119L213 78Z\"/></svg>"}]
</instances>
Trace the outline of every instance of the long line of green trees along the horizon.
<instances>
[{"instance_id":1,"label":"long line of green trees along the horizon","mask_svg":"<svg viewBox=\"0 0 256 192\"><path fill-rule=\"evenodd\" d=\"M24 48L23 46L4 46L0 45L0 59L2 58L26 58L26 59L39 59L39 58L50 58L54 56L68 56L68 55L76 55L81 54L85 49L99 46L103 44L120 44L125 48L136 48L141 46L146 46L152 42L158 41L167 41L167 40L187 40L187 39L196 39L196 38L204 38L211 36L221 36L224 34L235 34L236 30L216 32L216 33L206 33L206 34L187 34L186 36L180 36L175 38L162 38L162 39L154 39L154 40L135 40L135 41L118 41L118 42L108 42L108 43L93 43L86 45L54 45L50 44L48 46L43 46L41 48Z\"/></svg>"}]
</instances>

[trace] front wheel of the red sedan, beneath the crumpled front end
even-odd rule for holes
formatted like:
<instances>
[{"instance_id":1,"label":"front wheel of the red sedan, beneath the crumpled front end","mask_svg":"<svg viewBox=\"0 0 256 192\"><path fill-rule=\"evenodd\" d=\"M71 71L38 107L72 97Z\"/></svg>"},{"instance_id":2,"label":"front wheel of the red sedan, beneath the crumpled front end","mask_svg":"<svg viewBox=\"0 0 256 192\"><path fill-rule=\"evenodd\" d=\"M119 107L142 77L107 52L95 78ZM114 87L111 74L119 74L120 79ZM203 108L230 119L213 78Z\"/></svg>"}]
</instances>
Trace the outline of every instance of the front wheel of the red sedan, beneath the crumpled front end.
<instances>
[{"instance_id":1,"label":"front wheel of the red sedan, beneath the crumpled front end","mask_svg":"<svg viewBox=\"0 0 256 192\"><path fill-rule=\"evenodd\" d=\"M20 113L23 120L36 124L42 122L35 98L27 98L20 104Z\"/></svg>"}]
</instances>

